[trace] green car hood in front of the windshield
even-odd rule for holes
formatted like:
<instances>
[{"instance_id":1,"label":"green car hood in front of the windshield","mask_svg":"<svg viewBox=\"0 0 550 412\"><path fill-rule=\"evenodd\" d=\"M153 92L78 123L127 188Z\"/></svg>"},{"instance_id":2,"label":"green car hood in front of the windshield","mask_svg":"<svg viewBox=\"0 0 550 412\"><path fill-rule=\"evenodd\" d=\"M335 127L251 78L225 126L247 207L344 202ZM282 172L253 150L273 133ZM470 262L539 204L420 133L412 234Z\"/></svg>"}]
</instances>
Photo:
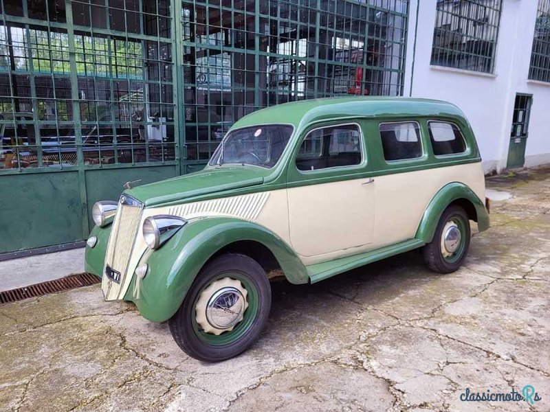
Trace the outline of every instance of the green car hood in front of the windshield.
<instances>
[{"instance_id":1,"label":"green car hood in front of the windshield","mask_svg":"<svg viewBox=\"0 0 550 412\"><path fill-rule=\"evenodd\" d=\"M124 193L144 203L146 207L155 206L241 187L261 185L269 172L267 169L254 166L223 165L219 168L207 168L200 172L133 187Z\"/></svg>"}]
</instances>

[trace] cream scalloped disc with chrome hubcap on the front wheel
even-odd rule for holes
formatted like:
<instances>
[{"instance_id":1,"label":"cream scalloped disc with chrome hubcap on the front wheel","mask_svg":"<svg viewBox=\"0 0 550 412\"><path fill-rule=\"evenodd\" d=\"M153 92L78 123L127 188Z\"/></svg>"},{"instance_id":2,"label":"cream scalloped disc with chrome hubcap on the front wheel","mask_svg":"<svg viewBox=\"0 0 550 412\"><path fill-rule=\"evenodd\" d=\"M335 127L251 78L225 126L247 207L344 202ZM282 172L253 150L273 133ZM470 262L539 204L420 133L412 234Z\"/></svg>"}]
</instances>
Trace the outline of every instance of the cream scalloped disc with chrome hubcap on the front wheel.
<instances>
[{"instance_id":1,"label":"cream scalloped disc with chrome hubcap on the front wheel","mask_svg":"<svg viewBox=\"0 0 550 412\"><path fill-rule=\"evenodd\" d=\"M206 333L219 335L233 330L248 308L246 296L247 291L238 280L218 279L199 295L195 319Z\"/></svg>"}]
</instances>

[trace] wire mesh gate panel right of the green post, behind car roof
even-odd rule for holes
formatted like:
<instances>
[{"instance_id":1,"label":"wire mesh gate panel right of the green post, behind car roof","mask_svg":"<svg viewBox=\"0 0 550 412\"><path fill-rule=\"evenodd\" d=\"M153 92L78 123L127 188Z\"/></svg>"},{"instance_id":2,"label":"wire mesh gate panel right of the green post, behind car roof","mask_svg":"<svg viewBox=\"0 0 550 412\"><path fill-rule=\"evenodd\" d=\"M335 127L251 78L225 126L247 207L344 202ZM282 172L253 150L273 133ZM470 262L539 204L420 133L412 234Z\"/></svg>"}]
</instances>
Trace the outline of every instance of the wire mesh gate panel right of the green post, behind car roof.
<instances>
[{"instance_id":1,"label":"wire mesh gate panel right of the green post, behind car roof","mask_svg":"<svg viewBox=\"0 0 550 412\"><path fill-rule=\"evenodd\" d=\"M259 108L402 93L407 0L183 0L188 161Z\"/></svg>"}]
</instances>

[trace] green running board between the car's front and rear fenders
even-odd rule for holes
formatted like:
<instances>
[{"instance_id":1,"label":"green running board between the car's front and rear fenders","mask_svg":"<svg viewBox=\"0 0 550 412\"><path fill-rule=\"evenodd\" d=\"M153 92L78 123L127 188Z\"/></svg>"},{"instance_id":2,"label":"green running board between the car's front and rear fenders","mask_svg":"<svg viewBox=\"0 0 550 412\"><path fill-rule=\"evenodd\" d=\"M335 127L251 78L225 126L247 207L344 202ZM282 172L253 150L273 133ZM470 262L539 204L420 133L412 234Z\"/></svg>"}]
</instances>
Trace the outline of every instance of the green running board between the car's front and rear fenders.
<instances>
[{"instance_id":1,"label":"green running board between the car's front and rear fenders","mask_svg":"<svg viewBox=\"0 0 550 412\"><path fill-rule=\"evenodd\" d=\"M309 275L309 281L313 284L325 280L334 275L339 275L351 269L358 268L365 264L376 262L377 260L382 260L389 258L393 255L398 255L399 253L404 253L412 251L412 249L417 249L422 247L424 242L419 239L410 239L405 242L399 242L391 244L386 247L381 247L380 249L375 249L373 251L368 251L365 253L360 253L358 255L347 256L346 258L340 258L336 260L329 260L328 262L321 262L316 264L311 264L306 266L307 274Z\"/></svg>"}]
</instances>

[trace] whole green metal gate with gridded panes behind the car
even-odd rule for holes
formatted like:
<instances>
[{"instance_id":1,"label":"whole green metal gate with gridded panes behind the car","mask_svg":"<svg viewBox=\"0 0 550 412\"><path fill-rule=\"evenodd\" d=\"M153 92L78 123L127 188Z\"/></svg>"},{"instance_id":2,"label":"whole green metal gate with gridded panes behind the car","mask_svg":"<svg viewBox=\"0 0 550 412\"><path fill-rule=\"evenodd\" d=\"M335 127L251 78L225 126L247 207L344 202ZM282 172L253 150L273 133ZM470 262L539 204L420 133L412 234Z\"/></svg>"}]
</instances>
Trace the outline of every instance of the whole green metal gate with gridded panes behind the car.
<instances>
[{"instance_id":1,"label":"whole green metal gate with gridded panes behind the car","mask_svg":"<svg viewBox=\"0 0 550 412\"><path fill-rule=\"evenodd\" d=\"M236 119L402 94L408 0L0 0L0 253L76 242Z\"/></svg>"}]
</instances>

